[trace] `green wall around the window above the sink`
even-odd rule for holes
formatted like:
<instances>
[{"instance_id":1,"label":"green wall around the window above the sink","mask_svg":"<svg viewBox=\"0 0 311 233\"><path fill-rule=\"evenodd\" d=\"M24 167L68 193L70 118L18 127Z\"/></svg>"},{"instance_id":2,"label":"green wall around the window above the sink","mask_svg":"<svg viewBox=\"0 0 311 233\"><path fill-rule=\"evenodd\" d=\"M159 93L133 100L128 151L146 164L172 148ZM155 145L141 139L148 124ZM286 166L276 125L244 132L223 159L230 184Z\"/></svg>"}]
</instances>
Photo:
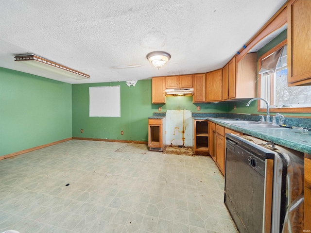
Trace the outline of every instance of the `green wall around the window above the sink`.
<instances>
[{"instance_id":1,"label":"green wall around the window above the sink","mask_svg":"<svg viewBox=\"0 0 311 233\"><path fill-rule=\"evenodd\" d=\"M280 33L276 38L274 38L271 42L266 44L264 47L262 47L260 50L258 50L257 53L257 61L259 60L259 57L262 56L267 51L274 48L276 45L281 43L287 38L287 30ZM257 90L257 87L256 87ZM250 100L250 99L248 99ZM251 113L251 114L264 114L263 112L257 111L257 101L251 102L249 107L246 107L246 104L248 100L239 100L239 101L232 101L228 102L228 112L230 113ZM310 113L283 113L280 109L280 112L286 116L311 116Z\"/></svg>"}]
</instances>

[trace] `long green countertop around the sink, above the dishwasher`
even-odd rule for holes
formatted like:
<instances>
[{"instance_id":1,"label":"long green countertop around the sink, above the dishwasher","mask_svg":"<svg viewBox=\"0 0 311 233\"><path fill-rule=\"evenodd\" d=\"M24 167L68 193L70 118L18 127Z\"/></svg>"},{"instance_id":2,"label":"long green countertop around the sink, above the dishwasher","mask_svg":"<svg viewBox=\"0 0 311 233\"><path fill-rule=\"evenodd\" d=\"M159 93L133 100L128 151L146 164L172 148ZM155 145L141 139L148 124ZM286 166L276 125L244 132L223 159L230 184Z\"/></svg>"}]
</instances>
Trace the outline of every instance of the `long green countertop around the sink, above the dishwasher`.
<instances>
[{"instance_id":1,"label":"long green countertop around the sink, above the dishwasher","mask_svg":"<svg viewBox=\"0 0 311 233\"><path fill-rule=\"evenodd\" d=\"M197 120L209 120L226 128L242 132L260 139L271 141L277 145L311 154L311 132L290 128L244 128L232 125L226 117L193 116ZM234 123L234 121L233 121Z\"/></svg>"}]
</instances>

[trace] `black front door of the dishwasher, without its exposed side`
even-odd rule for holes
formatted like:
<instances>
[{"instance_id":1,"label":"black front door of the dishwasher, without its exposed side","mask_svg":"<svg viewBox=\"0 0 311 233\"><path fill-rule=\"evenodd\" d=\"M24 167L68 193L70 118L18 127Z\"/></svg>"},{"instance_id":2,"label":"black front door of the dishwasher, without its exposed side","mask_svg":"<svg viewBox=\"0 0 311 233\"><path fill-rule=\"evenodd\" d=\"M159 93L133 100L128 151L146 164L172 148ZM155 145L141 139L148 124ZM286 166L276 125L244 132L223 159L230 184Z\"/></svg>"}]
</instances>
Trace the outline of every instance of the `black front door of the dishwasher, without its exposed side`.
<instances>
[{"instance_id":1,"label":"black front door of the dishwasher, without its exposed side","mask_svg":"<svg viewBox=\"0 0 311 233\"><path fill-rule=\"evenodd\" d=\"M263 232L265 165L274 156L271 150L226 134L225 205L240 233Z\"/></svg>"}]
</instances>

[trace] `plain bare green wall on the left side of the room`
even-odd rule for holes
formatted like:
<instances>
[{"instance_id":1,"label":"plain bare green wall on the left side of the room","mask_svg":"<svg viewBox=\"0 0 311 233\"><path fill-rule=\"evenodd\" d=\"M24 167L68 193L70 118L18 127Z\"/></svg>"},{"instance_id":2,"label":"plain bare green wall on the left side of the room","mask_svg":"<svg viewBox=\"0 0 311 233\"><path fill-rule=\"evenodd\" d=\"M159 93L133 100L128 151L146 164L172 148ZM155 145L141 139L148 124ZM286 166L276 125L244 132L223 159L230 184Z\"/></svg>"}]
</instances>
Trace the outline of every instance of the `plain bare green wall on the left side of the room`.
<instances>
[{"instance_id":1,"label":"plain bare green wall on the left side of the room","mask_svg":"<svg viewBox=\"0 0 311 233\"><path fill-rule=\"evenodd\" d=\"M72 135L71 84L0 67L0 156Z\"/></svg>"}]
</instances>

